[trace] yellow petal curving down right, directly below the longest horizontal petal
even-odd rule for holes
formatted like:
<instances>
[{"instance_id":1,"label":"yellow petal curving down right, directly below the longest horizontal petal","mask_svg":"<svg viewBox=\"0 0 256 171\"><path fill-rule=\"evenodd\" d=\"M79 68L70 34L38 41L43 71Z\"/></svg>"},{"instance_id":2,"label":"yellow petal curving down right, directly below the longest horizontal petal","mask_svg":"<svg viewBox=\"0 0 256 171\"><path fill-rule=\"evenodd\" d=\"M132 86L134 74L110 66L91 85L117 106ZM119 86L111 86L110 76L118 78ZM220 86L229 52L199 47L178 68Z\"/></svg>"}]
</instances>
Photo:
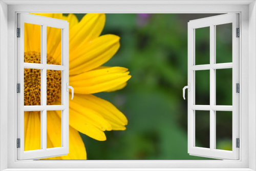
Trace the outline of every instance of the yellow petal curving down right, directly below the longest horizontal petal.
<instances>
[{"instance_id":1,"label":"yellow petal curving down right, directly below the longest horizontal petal","mask_svg":"<svg viewBox=\"0 0 256 171\"><path fill-rule=\"evenodd\" d=\"M76 103L96 111L105 118L112 125L113 130L125 130L125 125L128 123L126 117L109 101L94 95L75 94L75 98Z\"/></svg>"}]
</instances>

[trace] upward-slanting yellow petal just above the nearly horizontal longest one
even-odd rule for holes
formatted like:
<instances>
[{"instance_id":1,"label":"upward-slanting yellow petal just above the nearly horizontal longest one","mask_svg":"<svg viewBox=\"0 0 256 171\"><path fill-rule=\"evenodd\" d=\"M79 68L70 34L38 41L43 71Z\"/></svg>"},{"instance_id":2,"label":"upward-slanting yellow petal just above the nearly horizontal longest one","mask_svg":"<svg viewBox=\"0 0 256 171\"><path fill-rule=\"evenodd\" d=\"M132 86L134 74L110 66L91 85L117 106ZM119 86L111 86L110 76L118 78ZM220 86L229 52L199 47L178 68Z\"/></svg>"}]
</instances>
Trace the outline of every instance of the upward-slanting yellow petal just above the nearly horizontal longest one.
<instances>
[{"instance_id":1,"label":"upward-slanting yellow petal just above the nearly horizontal longest one","mask_svg":"<svg viewBox=\"0 0 256 171\"><path fill-rule=\"evenodd\" d=\"M119 39L116 35L103 35L70 51L70 75L90 71L108 61L119 49Z\"/></svg>"}]
</instances>

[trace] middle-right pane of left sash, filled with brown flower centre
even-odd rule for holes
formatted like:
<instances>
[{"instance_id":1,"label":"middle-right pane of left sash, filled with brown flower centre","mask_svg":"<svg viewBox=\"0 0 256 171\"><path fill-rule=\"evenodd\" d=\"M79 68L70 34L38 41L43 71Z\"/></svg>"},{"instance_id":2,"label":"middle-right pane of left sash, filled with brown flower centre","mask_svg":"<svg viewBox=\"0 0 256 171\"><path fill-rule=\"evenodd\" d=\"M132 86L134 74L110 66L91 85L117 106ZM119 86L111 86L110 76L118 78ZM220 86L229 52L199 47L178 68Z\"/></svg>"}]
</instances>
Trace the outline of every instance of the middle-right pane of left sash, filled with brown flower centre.
<instances>
[{"instance_id":1,"label":"middle-right pane of left sash, filled with brown flower centre","mask_svg":"<svg viewBox=\"0 0 256 171\"><path fill-rule=\"evenodd\" d=\"M61 105L61 71L47 70L47 105Z\"/></svg>"}]
</instances>

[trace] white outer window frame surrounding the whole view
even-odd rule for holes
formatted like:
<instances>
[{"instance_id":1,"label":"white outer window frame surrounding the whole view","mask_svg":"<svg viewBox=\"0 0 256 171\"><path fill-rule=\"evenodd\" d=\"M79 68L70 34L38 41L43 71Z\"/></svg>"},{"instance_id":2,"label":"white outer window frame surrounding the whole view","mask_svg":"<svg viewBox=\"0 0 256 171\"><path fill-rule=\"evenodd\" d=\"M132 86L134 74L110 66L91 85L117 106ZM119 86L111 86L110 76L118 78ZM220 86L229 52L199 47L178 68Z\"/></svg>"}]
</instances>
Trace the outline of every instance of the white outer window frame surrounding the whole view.
<instances>
[{"instance_id":1,"label":"white outer window frame surrounding the whole view","mask_svg":"<svg viewBox=\"0 0 256 171\"><path fill-rule=\"evenodd\" d=\"M240 14L240 160L17 161L16 13ZM1 1L0 170L256 170L255 1ZM7 57L8 56L8 57ZM8 74L6 74L8 71ZM8 90L8 91L6 91ZM182 88L181 88L182 90ZM8 100L6 98L8 97ZM29 169L30 168L30 169Z\"/></svg>"}]
</instances>

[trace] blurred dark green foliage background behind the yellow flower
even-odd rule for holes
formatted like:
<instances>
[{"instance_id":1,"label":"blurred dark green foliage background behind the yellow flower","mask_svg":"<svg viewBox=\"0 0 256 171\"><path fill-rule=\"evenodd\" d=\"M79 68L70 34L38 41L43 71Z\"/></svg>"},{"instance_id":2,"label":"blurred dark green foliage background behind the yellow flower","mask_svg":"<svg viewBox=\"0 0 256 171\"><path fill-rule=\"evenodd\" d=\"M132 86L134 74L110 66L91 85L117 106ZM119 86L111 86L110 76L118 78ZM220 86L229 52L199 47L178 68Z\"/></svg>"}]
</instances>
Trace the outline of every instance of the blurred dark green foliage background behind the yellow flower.
<instances>
[{"instance_id":1,"label":"blurred dark green foliage background behind the yellow flower","mask_svg":"<svg viewBox=\"0 0 256 171\"><path fill-rule=\"evenodd\" d=\"M123 90L96 96L117 106L129 124L125 131L105 132L106 141L81 134L89 160L207 159L187 153L182 88L187 85L187 23L214 15L219 14L106 14L102 34L120 36L121 47L105 66L128 68L132 78ZM76 16L80 20L84 14ZM217 27L216 62L232 62L230 31L230 25ZM209 28L196 29L196 65L207 63ZM232 105L232 69L216 75L217 104ZM196 71L196 104L209 104L209 71ZM231 121L231 112L216 114L218 149L232 150ZM196 111L196 145L209 147L209 111Z\"/></svg>"}]
</instances>

